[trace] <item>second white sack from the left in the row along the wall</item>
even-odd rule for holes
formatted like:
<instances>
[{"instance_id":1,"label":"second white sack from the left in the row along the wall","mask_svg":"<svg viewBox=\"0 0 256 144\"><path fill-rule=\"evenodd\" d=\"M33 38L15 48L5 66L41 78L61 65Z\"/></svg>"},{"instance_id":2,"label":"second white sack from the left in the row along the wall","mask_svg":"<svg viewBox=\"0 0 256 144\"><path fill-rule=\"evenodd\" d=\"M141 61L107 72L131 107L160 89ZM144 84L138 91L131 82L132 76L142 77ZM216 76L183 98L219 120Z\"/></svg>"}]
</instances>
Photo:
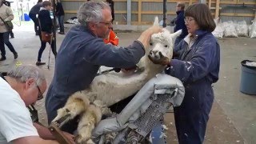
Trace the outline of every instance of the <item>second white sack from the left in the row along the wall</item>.
<instances>
[{"instance_id":1,"label":"second white sack from the left in the row along the wall","mask_svg":"<svg viewBox=\"0 0 256 144\"><path fill-rule=\"evenodd\" d=\"M231 37L231 38L238 37L238 33L235 30L234 22L232 22L232 21L223 22L223 26L224 26L224 36L225 37Z\"/></svg>"}]
</instances>

